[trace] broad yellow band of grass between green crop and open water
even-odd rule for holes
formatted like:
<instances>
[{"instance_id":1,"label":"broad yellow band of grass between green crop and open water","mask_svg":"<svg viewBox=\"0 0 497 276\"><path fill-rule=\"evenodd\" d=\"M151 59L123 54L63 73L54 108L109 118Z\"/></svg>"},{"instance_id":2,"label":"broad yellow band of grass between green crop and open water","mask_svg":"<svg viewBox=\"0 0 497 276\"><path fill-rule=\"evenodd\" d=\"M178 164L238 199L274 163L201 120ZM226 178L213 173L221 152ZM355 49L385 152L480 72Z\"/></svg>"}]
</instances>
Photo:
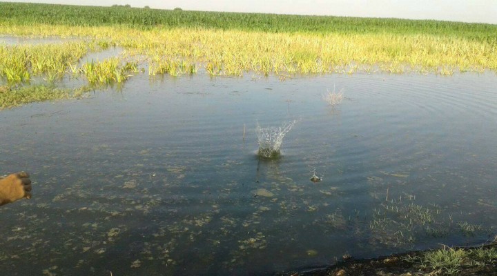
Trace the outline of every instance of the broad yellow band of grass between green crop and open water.
<instances>
[{"instance_id":1,"label":"broad yellow band of grass between green crop and open water","mask_svg":"<svg viewBox=\"0 0 497 276\"><path fill-rule=\"evenodd\" d=\"M497 45L429 34L312 34L203 28L6 26L0 33L93 37L148 57L150 75L204 68L210 75L497 70ZM187 64L187 66L183 66ZM173 69L173 70L171 70Z\"/></svg>"}]
</instances>

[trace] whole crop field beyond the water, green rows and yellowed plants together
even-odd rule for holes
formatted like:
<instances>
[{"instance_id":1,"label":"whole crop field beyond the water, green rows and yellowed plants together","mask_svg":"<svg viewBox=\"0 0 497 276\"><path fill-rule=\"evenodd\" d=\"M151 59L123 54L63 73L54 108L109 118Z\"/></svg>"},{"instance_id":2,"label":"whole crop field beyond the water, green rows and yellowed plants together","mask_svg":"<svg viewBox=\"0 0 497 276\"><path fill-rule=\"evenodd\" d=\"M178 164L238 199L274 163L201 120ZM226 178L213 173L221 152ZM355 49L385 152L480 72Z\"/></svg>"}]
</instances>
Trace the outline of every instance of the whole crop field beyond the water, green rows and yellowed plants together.
<instances>
[{"instance_id":1,"label":"whole crop field beyond the water, green rows and yellowed plants together","mask_svg":"<svg viewBox=\"0 0 497 276\"><path fill-rule=\"evenodd\" d=\"M0 3L0 35L76 39L2 45L0 79L12 90L33 77L91 85L151 77L497 70L497 26L401 19L193 12L150 8ZM79 39L79 40L78 40ZM125 54L78 63L108 47ZM0 83L1 84L1 83ZM12 106L0 94L0 106Z\"/></svg>"}]
</instances>

